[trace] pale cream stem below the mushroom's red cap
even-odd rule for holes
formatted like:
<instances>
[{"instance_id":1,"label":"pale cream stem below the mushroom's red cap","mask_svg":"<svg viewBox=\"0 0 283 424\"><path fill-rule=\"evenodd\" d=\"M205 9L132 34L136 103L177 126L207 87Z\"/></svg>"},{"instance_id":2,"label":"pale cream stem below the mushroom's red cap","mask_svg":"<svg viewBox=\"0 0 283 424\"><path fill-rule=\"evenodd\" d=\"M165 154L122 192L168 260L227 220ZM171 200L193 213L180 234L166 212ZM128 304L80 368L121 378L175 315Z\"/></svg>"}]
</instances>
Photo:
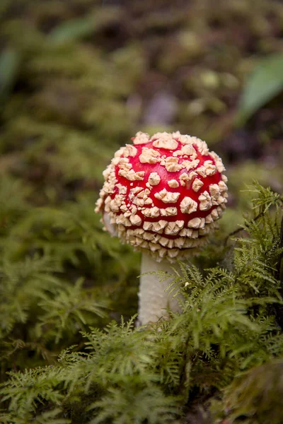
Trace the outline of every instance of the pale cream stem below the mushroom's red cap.
<instances>
[{"instance_id":1,"label":"pale cream stem below the mushroom's red cap","mask_svg":"<svg viewBox=\"0 0 283 424\"><path fill-rule=\"evenodd\" d=\"M166 290L172 278L160 281L161 276L149 272L166 271L172 274L172 264L166 259L156 262L151 256L143 253L141 256L141 277L139 283L139 324L157 322L158 319L168 318L168 311L180 312L178 298ZM178 267L174 264L174 267Z\"/></svg>"}]
</instances>

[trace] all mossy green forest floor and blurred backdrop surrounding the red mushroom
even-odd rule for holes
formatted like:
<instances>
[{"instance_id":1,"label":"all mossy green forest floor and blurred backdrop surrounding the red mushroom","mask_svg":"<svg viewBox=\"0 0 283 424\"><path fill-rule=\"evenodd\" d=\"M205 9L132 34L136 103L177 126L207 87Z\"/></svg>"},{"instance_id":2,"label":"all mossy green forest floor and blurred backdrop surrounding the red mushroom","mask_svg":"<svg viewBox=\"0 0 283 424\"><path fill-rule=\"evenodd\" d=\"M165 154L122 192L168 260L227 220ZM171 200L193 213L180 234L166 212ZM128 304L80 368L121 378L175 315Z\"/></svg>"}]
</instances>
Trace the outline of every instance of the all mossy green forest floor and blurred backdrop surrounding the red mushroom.
<instances>
[{"instance_id":1,"label":"all mossy green forest floor and blurred backdrop surrounding the red mushroom","mask_svg":"<svg viewBox=\"0 0 283 424\"><path fill-rule=\"evenodd\" d=\"M283 8L216 6L1 1L1 423L282 423L282 83L248 75ZM166 129L223 157L229 208L172 271L183 313L136 329L139 254L93 208L113 152Z\"/></svg>"}]
</instances>

